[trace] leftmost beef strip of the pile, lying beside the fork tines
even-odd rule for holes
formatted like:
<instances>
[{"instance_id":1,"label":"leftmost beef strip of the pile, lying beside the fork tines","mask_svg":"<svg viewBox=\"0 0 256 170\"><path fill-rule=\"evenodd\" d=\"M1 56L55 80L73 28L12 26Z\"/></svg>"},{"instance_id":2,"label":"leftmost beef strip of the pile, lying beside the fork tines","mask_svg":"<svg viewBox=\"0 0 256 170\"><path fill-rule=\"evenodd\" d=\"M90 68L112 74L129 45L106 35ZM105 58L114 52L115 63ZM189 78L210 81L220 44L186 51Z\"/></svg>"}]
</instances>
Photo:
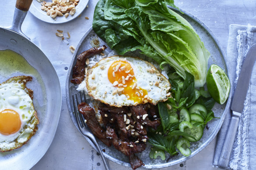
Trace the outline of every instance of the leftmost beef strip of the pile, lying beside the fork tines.
<instances>
[{"instance_id":1,"label":"leftmost beef strip of the pile, lying beside the fork tines","mask_svg":"<svg viewBox=\"0 0 256 170\"><path fill-rule=\"evenodd\" d=\"M81 103L78 105L78 110L83 114L87 126L91 129L92 134L100 139L105 145L111 146L111 140L107 139L106 132L103 128L100 127L96 117L95 111L87 103Z\"/></svg>"}]
</instances>

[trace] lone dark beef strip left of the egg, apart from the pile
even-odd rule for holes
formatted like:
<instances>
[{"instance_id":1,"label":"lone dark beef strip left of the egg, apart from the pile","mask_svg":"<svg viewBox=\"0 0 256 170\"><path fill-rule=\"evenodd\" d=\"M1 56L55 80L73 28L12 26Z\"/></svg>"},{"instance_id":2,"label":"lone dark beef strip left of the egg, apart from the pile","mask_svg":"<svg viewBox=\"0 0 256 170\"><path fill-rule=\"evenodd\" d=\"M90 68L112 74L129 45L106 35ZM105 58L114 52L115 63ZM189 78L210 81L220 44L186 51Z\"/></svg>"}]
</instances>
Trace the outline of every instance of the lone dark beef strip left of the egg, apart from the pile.
<instances>
[{"instance_id":1,"label":"lone dark beef strip left of the egg, apart from the pile","mask_svg":"<svg viewBox=\"0 0 256 170\"><path fill-rule=\"evenodd\" d=\"M73 75L71 79L71 83L80 84L85 78L85 60L91 56L96 54L100 54L105 49L107 49L106 45L102 45L100 47L95 47L89 50L86 50L77 56L76 64L73 67Z\"/></svg>"}]
</instances>

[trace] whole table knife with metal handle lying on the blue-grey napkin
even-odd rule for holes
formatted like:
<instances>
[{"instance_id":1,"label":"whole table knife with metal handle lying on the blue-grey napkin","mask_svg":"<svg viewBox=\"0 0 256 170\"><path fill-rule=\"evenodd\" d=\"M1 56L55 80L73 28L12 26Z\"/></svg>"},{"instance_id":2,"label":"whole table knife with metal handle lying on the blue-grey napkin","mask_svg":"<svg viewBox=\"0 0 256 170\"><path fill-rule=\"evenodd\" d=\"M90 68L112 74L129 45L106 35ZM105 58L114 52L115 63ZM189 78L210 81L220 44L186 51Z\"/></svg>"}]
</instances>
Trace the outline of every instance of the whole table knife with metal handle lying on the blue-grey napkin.
<instances>
[{"instance_id":1,"label":"whole table knife with metal handle lying on the blue-grey napkin","mask_svg":"<svg viewBox=\"0 0 256 170\"><path fill-rule=\"evenodd\" d=\"M246 54L245 60L242 64L242 69L238 77L238 82L235 88L234 97L231 104L232 118L229 123L228 132L222 148L218 166L220 168L227 168L235 135L238 128L239 118L241 117L247 90L250 83L252 68L256 59L256 44L252 45Z\"/></svg>"}]
</instances>

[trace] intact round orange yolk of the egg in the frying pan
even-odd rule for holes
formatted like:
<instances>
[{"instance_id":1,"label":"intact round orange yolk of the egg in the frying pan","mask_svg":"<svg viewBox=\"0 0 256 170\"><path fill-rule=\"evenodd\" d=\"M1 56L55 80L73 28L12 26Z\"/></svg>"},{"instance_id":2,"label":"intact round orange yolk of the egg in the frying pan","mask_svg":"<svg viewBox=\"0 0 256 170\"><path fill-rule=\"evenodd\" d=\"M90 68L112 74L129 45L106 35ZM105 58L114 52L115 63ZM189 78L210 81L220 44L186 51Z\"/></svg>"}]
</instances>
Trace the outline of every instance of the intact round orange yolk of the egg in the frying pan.
<instances>
[{"instance_id":1,"label":"intact round orange yolk of the egg in the frying pan","mask_svg":"<svg viewBox=\"0 0 256 170\"><path fill-rule=\"evenodd\" d=\"M0 133L11 135L18 132L21 128L20 115L11 109L0 112Z\"/></svg>"}]
</instances>

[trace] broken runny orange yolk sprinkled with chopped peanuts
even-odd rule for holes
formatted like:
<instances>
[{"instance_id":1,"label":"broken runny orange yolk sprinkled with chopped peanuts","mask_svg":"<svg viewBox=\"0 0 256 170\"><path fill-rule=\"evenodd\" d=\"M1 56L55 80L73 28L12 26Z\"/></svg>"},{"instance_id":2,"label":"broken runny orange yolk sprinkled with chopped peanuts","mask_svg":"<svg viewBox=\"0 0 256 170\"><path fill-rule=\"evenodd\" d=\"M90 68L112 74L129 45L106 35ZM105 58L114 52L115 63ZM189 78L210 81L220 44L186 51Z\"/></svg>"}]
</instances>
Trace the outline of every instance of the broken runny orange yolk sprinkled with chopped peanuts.
<instances>
[{"instance_id":1,"label":"broken runny orange yolk sprinkled with chopped peanuts","mask_svg":"<svg viewBox=\"0 0 256 170\"><path fill-rule=\"evenodd\" d=\"M124 94L129 100L142 104L152 101L145 89L137 86L132 66L126 60L117 60L108 69L108 80L118 87L117 93Z\"/></svg>"}]
</instances>

